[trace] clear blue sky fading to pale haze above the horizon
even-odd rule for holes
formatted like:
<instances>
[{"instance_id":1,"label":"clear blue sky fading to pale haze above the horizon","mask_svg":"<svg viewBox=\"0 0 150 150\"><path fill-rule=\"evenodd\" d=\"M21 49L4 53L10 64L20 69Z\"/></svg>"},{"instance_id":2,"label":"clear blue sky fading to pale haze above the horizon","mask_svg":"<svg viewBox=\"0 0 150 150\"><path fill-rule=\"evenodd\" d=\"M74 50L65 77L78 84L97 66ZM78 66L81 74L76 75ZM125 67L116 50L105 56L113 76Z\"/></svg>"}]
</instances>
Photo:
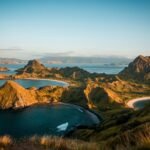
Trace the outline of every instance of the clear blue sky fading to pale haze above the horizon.
<instances>
[{"instance_id":1,"label":"clear blue sky fading to pale haze above the horizon","mask_svg":"<svg viewBox=\"0 0 150 150\"><path fill-rule=\"evenodd\" d=\"M0 0L0 57L150 55L150 0Z\"/></svg>"}]
</instances>

